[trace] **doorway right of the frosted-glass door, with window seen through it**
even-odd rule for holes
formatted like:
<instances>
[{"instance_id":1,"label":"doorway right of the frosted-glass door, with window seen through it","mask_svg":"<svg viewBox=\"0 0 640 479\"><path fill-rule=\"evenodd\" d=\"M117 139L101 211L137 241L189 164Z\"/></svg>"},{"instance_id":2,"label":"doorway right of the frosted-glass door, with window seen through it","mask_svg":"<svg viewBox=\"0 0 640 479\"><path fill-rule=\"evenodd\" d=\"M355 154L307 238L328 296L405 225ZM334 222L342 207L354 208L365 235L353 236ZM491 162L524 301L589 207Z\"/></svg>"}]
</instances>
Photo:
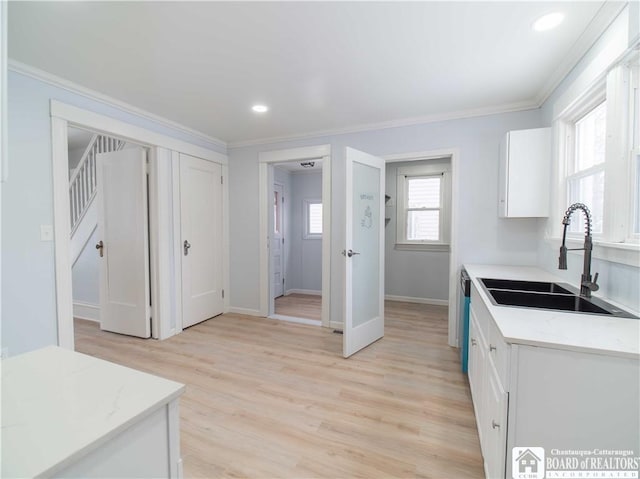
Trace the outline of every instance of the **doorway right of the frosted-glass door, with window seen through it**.
<instances>
[{"instance_id":1,"label":"doorway right of the frosted-glass door, with window seen through it","mask_svg":"<svg viewBox=\"0 0 640 479\"><path fill-rule=\"evenodd\" d=\"M458 158L459 151L456 148L384 157L387 165L387 191L391 196L386 203L387 217L391 218L386 232L386 261L390 265L386 272L387 283L393 284L394 288L401 287L408 291L390 290L387 292L387 299L447 306L448 343L452 347L459 346L461 334L458 324L459 264L456 230ZM440 180L436 180L437 178ZM410 185L411 180L415 180L416 185ZM432 216L433 221L421 222L419 217L410 218L411 215L416 216L415 212L410 212L413 208L409 207L408 188L412 186L417 187L414 189L415 194L430 194L433 198L427 200L427 203L432 201L433 205L424 203L425 200L421 199L418 201L420 208L417 208L423 211L417 213L418 215L422 214L425 216L424 219ZM436 191L437 195L434 193ZM437 201L436 197L440 200ZM413 223L410 219L414 220ZM420 238L431 240L425 241L422 245L416 244L419 241L411 241ZM417 253L418 251L420 253ZM411 265L411 268L400 268L398 265L401 266L403 262L405 265ZM425 262L429 263L428 268ZM395 268L393 263L396 263ZM414 267L420 271L429 271L429 276L422 276L419 283L412 283L412 275L416 274ZM402 280L397 281L395 279L400 272Z\"/></svg>"}]
</instances>

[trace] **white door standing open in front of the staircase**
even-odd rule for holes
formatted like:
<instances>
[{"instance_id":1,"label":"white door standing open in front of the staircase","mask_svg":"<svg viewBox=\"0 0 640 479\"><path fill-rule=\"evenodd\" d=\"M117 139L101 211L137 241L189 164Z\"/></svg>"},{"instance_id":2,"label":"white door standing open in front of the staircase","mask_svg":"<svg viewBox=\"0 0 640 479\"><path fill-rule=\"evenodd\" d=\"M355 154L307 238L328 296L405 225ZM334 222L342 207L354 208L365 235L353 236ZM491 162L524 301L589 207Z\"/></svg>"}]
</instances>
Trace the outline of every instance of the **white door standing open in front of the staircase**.
<instances>
[{"instance_id":1,"label":"white door standing open in front of the staircase","mask_svg":"<svg viewBox=\"0 0 640 479\"><path fill-rule=\"evenodd\" d=\"M141 338L151 336L146 161L143 148L96 156L100 328Z\"/></svg>"}]
</instances>

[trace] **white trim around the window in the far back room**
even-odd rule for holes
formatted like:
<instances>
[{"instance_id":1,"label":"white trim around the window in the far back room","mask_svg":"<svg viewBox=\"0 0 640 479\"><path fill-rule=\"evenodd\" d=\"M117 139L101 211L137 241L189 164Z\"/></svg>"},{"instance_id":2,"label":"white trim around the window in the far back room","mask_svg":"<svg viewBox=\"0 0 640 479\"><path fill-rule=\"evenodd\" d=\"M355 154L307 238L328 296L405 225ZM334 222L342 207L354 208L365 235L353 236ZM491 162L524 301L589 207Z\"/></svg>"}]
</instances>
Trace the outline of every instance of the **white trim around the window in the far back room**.
<instances>
[{"instance_id":1,"label":"white trim around the window in the far back room","mask_svg":"<svg viewBox=\"0 0 640 479\"><path fill-rule=\"evenodd\" d=\"M406 178L442 175L440 184L440 241L406 239ZM398 168L396 174L396 243L400 251L449 251L451 232L451 165L436 163L433 165L406 166Z\"/></svg>"}]
</instances>

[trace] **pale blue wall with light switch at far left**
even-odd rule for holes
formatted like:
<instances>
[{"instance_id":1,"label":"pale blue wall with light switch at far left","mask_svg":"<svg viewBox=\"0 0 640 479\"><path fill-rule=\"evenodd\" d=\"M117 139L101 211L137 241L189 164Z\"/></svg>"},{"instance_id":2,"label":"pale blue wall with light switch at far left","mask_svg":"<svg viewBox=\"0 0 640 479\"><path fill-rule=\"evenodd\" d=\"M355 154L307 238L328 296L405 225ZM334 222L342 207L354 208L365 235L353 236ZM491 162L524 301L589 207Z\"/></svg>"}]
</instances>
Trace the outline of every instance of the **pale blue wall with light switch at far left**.
<instances>
[{"instance_id":1,"label":"pale blue wall with light switch at far left","mask_svg":"<svg viewBox=\"0 0 640 479\"><path fill-rule=\"evenodd\" d=\"M53 224L51 99L224 153L218 144L10 71L9 175L2 185L2 346L10 355L57 344L54 244L40 241L40 225Z\"/></svg>"}]
</instances>

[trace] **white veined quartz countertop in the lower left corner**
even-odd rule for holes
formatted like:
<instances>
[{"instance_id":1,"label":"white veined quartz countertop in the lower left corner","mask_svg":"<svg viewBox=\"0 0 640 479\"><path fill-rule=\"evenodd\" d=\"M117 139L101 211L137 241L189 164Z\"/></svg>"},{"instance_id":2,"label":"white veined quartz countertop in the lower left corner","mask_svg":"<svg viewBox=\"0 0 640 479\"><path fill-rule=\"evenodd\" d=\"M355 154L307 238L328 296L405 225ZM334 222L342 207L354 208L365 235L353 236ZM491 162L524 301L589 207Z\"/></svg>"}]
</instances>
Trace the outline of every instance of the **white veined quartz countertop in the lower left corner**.
<instances>
[{"instance_id":1,"label":"white veined quartz countertop in the lower left corner","mask_svg":"<svg viewBox=\"0 0 640 479\"><path fill-rule=\"evenodd\" d=\"M56 346L5 359L2 477L50 476L179 397L184 385Z\"/></svg>"}]
</instances>

